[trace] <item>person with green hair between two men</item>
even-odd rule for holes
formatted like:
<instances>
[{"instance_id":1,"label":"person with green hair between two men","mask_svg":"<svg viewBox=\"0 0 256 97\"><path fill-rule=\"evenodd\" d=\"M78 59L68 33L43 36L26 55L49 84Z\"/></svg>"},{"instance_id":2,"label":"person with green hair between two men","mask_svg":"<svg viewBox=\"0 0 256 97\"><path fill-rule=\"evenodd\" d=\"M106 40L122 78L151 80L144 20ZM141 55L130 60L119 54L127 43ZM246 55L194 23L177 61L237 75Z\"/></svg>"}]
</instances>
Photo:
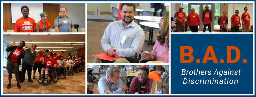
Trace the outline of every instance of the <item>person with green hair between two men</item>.
<instances>
[{"instance_id":1,"label":"person with green hair between two men","mask_svg":"<svg viewBox=\"0 0 256 97\"><path fill-rule=\"evenodd\" d=\"M41 20L37 22L36 29L37 32L50 32L51 23L47 21L46 12L40 13Z\"/></svg>"}]
</instances>

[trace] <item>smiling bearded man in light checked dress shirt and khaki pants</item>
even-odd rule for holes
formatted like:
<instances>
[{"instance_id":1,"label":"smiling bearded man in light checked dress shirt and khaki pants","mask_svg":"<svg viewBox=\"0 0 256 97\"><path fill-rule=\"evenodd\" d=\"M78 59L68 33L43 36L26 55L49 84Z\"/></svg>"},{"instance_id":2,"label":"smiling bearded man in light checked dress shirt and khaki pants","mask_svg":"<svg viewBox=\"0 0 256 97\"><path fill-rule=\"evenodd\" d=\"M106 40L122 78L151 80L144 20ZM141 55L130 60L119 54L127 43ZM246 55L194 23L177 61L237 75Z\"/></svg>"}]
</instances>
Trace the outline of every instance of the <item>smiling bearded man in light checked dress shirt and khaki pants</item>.
<instances>
[{"instance_id":1,"label":"smiling bearded man in light checked dress shirt and khaki pants","mask_svg":"<svg viewBox=\"0 0 256 97\"><path fill-rule=\"evenodd\" d=\"M133 3L123 3L120 14L122 20L111 22L101 39L101 46L104 51L109 56L120 59L107 61L95 58L94 63L130 63L123 57L133 57L135 53L141 51L145 36L141 27L133 21L136 14L135 5Z\"/></svg>"}]
</instances>

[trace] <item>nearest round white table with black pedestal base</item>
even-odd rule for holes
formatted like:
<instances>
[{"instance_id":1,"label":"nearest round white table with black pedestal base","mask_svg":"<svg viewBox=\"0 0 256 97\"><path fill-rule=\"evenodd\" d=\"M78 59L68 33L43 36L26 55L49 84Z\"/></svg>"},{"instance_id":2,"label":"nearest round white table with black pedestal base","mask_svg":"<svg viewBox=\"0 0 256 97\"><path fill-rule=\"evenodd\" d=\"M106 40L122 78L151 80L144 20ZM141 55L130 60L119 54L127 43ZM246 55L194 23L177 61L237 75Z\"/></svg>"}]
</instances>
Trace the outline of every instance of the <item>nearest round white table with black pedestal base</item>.
<instances>
[{"instance_id":1,"label":"nearest round white table with black pedestal base","mask_svg":"<svg viewBox=\"0 0 256 97\"><path fill-rule=\"evenodd\" d=\"M148 45L155 44L155 41L153 41L153 30L159 29L159 25L157 23L158 23L157 21L140 22L140 25L149 28L149 39L148 40L145 39L145 41L150 42L148 43Z\"/></svg>"}]
</instances>

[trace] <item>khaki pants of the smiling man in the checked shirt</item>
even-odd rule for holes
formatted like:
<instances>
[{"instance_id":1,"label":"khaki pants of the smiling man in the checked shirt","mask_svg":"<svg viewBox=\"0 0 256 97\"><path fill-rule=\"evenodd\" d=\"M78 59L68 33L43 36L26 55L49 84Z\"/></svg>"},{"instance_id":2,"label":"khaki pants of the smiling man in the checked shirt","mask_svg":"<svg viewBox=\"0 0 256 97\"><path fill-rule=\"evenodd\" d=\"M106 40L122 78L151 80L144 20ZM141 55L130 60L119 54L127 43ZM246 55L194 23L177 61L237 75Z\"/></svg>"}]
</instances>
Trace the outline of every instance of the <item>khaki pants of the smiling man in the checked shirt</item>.
<instances>
[{"instance_id":1,"label":"khaki pants of the smiling man in the checked shirt","mask_svg":"<svg viewBox=\"0 0 256 97\"><path fill-rule=\"evenodd\" d=\"M130 63L126 58L116 59L115 61L102 60L100 58L94 58L93 63Z\"/></svg>"}]
</instances>

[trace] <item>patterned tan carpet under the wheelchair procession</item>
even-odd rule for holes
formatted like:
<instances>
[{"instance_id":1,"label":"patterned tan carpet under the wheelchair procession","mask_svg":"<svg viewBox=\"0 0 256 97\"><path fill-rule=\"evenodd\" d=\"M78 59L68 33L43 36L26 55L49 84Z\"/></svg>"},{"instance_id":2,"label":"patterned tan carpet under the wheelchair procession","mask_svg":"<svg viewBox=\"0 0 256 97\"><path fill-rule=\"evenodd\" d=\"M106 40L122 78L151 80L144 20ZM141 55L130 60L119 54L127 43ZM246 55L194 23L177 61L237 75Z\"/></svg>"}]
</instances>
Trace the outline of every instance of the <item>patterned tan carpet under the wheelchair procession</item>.
<instances>
[{"instance_id":1,"label":"patterned tan carpet under the wheelchair procession","mask_svg":"<svg viewBox=\"0 0 256 97\"><path fill-rule=\"evenodd\" d=\"M51 85L38 83L38 72L35 76L35 79L32 78L33 82L28 82L26 72L25 81L20 83L21 89L18 89L15 75L12 74L11 88L6 89L9 83L8 73L6 68L3 68L3 94L85 94L85 72L74 73L73 76L67 75L63 80L60 76L58 81L51 82Z\"/></svg>"}]
</instances>

